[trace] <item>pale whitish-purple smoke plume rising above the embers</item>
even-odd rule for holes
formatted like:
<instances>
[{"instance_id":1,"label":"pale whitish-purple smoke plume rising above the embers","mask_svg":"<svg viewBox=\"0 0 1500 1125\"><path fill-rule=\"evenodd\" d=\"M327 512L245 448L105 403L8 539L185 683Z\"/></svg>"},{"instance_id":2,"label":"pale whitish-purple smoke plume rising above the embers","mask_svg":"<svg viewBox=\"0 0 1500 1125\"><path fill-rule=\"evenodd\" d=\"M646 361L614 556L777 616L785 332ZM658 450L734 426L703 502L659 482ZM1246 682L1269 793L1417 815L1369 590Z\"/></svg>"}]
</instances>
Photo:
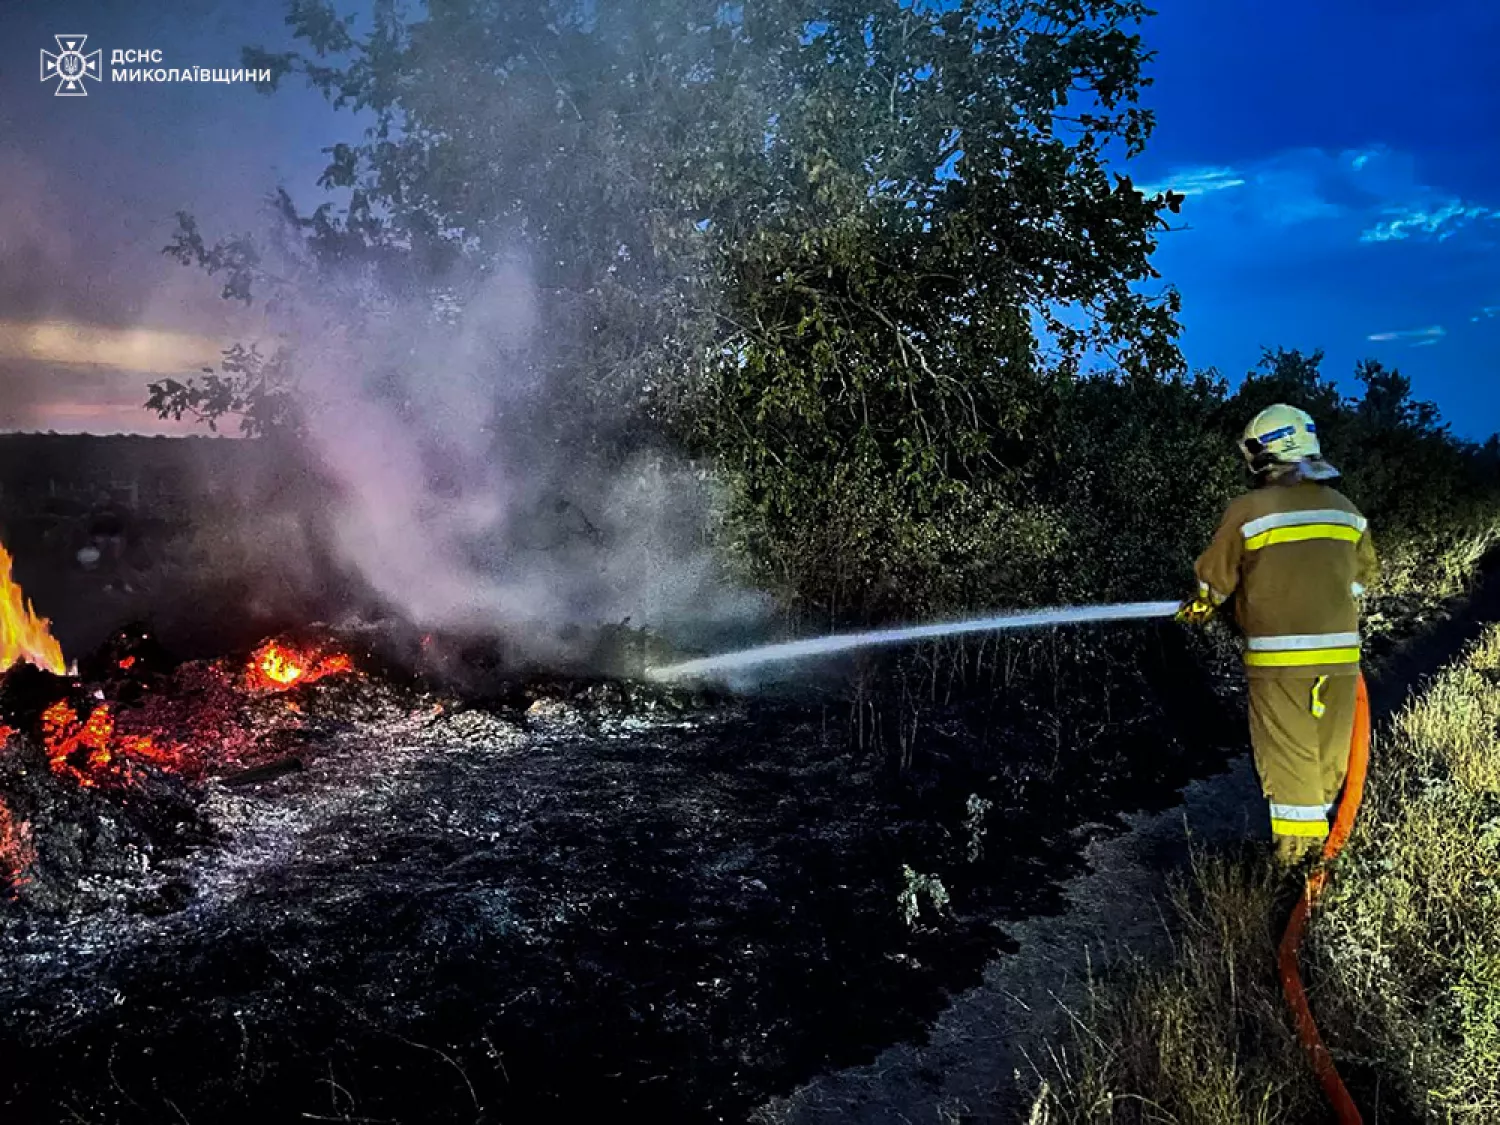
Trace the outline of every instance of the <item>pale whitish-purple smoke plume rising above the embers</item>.
<instances>
[{"instance_id":1,"label":"pale whitish-purple smoke plume rising above the embers","mask_svg":"<svg viewBox=\"0 0 1500 1125\"><path fill-rule=\"evenodd\" d=\"M706 474L660 454L604 472L555 436L520 261L462 300L362 303L304 308L291 340L308 444L339 496L332 548L386 606L537 654L570 627L681 633L762 612L705 540Z\"/></svg>"}]
</instances>

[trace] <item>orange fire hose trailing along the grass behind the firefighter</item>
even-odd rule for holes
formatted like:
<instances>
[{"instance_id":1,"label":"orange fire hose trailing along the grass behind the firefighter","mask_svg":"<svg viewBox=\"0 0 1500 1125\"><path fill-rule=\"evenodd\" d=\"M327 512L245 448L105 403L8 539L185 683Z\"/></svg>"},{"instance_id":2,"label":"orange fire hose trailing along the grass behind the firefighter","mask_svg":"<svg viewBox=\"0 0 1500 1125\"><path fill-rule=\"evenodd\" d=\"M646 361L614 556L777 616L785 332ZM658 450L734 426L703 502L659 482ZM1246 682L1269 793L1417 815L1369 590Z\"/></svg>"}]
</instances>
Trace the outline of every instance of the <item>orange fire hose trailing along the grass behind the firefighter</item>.
<instances>
[{"instance_id":1,"label":"orange fire hose trailing along the grass behind the firefighter","mask_svg":"<svg viewBox=\"0 0 1500 1125\"><path fill-rule=\"evenodd\" d=\"M1359 813L1359 802L1365 794L1365 768L1368 764L1370 692L1365 687L1365 678L1360 675L1354 699L1354 735L1348 746L1348 776L1344 780L1344 796L1338 802L1338 814L1334 818L1334 826L1323 843L1322 862L1308 876L1306 888L1292 910L1287 932L1281 938L1281 956L1278 958L1281 990L1287 994L1287 1004L1292 1006L1292 1017L1298 1026L1298 1038L1312 1060L1312 1072L1317 1074L1317 1080L1323 1086L1323 1094L1329 1106L1334 1107L1334 1118L1338 1120L1338 1125L1362 1125L1364 1118L1359 1116L1354 1100L1348 1096L1344 1080L1338 1077L1338 1066L1334 1065L1334 1056L1323 1046L1317 1022L1314 1022L1312 1012L1308 1010L1308 994L1306 988L1302 987L1302 972L1298 968L1298 950L1302 946L1302 934L1306 930L1308 915L1328 885L1328 864L1344 849L1348 834L1354 826L1354 816Z\"/></svg>"}]
</instances>

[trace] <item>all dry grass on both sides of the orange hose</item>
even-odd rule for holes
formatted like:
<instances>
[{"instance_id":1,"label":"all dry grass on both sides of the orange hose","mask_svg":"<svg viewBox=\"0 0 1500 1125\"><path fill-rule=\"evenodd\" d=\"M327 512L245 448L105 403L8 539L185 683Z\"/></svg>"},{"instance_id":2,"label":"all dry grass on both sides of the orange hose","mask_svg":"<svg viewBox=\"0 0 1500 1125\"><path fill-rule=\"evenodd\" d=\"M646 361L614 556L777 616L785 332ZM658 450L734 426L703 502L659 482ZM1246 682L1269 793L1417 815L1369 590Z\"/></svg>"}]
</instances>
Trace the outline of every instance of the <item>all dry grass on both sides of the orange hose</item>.
<instances>
[{"instance_id":1,"label":"all dry grass on both sides of the orange hose","mask_svg":"<svg viewBox=\"0 0 1500 1125\"><path fill-rule=\"evenodd\" d=\"M1032 1122L1324 1119L1275 974L1275 876L1200 856L1174 908L1176 957L1095 982ZM1425 1120L1500 1120L1500 627L1377 740L1304 969L1350 1070Z\"/></svg>"}]
</instances>

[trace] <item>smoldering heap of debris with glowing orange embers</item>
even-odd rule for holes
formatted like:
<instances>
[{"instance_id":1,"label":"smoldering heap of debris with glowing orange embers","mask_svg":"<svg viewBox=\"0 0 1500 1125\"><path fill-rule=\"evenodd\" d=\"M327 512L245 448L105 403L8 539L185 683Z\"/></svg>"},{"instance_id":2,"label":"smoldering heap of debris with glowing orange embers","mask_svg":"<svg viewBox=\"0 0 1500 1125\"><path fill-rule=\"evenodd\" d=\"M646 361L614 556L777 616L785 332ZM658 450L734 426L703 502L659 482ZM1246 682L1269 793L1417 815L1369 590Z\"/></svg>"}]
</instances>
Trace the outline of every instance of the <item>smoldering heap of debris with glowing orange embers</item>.
<instances>
[{"instance_id":1,"label":"smoldering heap of debris with glowing orange embers","mask_svg":"<svg viewBox=\"0 0 1500 1125\"><path fill-rule=\"evenodd\" d=\"M225 790L321 777L351 753L368 766L394 741L420 754L507 752L549 730L610 736L621 724L676 722L694 700L506 669L464 681L488 687L486 710L459 702L452 680L405 670L363 640L351 650L350 638L309 628L248 654L176 663L135 627L80 662L80 676L27 663L0 674L0 879L10 900L60 915L111 902L130 910L156 892L177 902L188 861L226 846L240 819L225 816Z\"/></svg>"}]
</instances>

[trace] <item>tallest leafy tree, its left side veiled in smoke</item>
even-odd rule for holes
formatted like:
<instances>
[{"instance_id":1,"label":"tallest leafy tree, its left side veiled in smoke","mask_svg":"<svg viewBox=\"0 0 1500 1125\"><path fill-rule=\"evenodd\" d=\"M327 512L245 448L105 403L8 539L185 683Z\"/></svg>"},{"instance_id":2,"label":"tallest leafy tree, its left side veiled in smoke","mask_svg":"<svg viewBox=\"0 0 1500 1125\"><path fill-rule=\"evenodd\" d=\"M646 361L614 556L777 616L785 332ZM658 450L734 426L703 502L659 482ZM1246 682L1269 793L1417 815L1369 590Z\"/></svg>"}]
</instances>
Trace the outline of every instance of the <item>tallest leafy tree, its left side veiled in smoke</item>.
<instances>
[{"instance_id":1,"label":"tallest leafy tree, its left side veiled in smoke","mask_svg":"<svg viewBox=\"0 0 1500 1125\"><path fill-rule=\"evenodd\" d=\"M422 291L519 248L548 324L528 363L566 404L538 424L711 458L758 576L867 615L993 585L998 540L1046 554L1028 480L1054 381L1100 352L1180 368L1176 294L1142 288L1179 198L1110 172L1154 124L1146 15L380 0L362 27L296 0L304 50L246 62L374 120L330 148L340 207L284 204L298 255ZM267 273L186 224L171 249L226 296Z\"/></svg>"}]
</instances>

